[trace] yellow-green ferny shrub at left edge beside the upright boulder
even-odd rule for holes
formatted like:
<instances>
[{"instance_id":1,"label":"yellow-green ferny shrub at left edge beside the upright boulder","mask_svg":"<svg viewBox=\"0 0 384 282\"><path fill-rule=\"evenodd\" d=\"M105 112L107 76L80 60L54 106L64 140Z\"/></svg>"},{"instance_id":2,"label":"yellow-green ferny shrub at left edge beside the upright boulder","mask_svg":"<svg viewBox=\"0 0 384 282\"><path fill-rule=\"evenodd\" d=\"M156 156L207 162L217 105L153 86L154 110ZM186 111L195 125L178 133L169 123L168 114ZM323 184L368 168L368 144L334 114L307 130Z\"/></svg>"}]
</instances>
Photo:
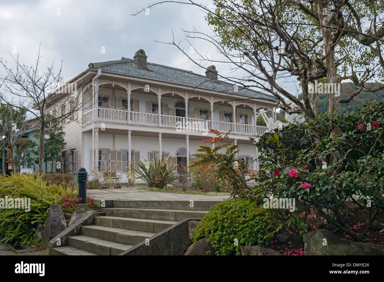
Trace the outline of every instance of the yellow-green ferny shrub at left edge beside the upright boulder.
<instances>
[{"instance_id":1,"label":"yellow-green ferny shrub at left edge beside the upright boulder","mask_svg":"<svg viewBox=\"0 0 384 282\"><path fill-rule=\"evenodd\" d=\"M38 243L35 232L39 223L44 224L51 204L59 203L58 197L73 193L71 186L47 186L42 177L33 175L0 176L0 198L30 198L30 211L25 209L0 209L0 242L12 244Z\"/></svg>"}]
</instances>

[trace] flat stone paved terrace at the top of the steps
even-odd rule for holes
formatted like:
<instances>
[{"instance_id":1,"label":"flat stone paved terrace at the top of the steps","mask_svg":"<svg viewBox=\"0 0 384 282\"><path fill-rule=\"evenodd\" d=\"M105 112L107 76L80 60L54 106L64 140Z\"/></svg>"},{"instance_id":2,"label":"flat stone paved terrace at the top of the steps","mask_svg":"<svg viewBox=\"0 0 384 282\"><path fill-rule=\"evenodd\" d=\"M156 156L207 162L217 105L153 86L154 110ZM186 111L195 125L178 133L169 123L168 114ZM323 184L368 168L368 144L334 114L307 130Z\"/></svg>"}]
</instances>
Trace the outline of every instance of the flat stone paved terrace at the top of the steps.
<instances>
[{"instance_id":1,"label":"flat stone paved terrace at the top of the steps","mask_svg":"<svg viewBox=\"0 0 384 282\"><path fill-rule=\"evenodd\" d=\"M194 195L174 192L143 191L134 189L91 189L87 196L95 200L194 200L222 201L229 195Z\"/></svg>"}]
</instances>

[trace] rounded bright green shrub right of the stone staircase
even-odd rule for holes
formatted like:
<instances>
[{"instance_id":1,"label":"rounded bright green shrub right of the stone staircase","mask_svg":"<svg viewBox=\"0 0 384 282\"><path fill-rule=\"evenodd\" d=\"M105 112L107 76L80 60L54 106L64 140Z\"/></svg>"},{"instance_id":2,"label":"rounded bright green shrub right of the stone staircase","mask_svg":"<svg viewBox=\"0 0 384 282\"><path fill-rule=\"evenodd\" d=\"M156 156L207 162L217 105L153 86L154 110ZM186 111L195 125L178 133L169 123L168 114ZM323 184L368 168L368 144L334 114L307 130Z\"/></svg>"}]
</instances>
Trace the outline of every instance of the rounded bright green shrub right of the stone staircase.
<instances>
[{"instance_id":1,"label":"rounded bright green shrub right of the stone staircase","mask_svg":"<svg viewBox=\"0 0 384 282\"><path fill-rule=\"evenodd\" d=\"M274 228L265 221L263 213L251 215L258 204L242 199L226 200L210 208L195 229L194 242L208 237L218 255L235 251L241 255L244 246L263 246ZM235 245L237 239L237 245Z\"/></svg>"}]
</instances>

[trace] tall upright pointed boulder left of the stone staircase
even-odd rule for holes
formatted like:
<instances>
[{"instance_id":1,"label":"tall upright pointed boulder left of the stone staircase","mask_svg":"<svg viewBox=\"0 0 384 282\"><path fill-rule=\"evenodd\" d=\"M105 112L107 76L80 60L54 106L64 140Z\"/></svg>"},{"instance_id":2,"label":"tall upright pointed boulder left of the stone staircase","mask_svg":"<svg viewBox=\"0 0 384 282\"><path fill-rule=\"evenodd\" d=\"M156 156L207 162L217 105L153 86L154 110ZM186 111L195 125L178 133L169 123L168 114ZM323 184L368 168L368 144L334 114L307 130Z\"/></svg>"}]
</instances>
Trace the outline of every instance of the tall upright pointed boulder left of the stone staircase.
<instances>
[{"instance_id":1,"label":"tall upright pointed boulder left of the stone staircase","mask_svg":"<svg viewBox=\"0 0 384 282\"><path fill-rule=\"evenodd\" d=\"M48 211L47 219L45 221L43 229L43 238L41 240L41 247L45 249L48 248L49 241L55 238L66 228L67 223L65 222L63 209L61 209L60 204L52 204Z\"/></svg>"}]
</instances>

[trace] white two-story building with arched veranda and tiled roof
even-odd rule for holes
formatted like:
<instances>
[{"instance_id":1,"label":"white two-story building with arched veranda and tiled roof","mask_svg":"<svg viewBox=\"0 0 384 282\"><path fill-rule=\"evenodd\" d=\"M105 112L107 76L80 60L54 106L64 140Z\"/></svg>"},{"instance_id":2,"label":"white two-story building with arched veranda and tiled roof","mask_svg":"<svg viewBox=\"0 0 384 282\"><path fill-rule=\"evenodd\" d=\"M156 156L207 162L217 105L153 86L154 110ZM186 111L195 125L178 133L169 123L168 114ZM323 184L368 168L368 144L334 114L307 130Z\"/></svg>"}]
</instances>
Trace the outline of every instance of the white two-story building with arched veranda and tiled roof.
<instances>
[{"instance_id":1,"label":"white two-story building with arched veranda and tiled roof","mask_svg":"<svg viewBox=\"0 0 384 282\"><path fill-rule=\"evenodd\" d=\"M65 172L84 167L124 175L130 162L160 153L186 167L196 149L207 145L202 140L214 137L209 129L231 130L238 158L258 169L249 137L265 132L256 124L258 110L275 113L275 98L220 81L215 66L207 69L204 76L147 63L142 49L133 59L89 64L69 81L78 85L74 95L81 95L83 105L63 120Z\"/></svg>"}]
</instances>

